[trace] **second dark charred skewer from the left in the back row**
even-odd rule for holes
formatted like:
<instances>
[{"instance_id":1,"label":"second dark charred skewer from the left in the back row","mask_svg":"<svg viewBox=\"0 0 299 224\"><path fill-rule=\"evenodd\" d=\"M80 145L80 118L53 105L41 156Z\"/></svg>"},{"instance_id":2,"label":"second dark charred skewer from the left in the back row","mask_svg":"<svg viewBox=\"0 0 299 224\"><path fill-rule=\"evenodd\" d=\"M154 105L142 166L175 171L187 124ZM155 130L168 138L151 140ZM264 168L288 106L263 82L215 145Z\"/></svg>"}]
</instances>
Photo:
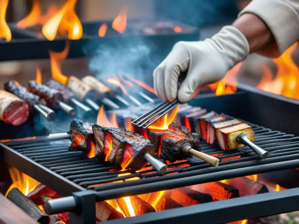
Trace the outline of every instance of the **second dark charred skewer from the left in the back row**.
<instances>
[{"instance_id":1,"label":"second dark charred skewer from the left in the back row","mask_svg":"<svg viewBox=\"0 0 299 224\"><path fill-rule=\"evenodd\" d=\"M62 94L55 89L52 89L46 85L37 84L35 81L29 81L29 91L38 95L41 99L45 100L47 106L52 109L62 109L67 114L74 116L76 111L71 106L62 102Z\"/></svg>"}]
</instances>

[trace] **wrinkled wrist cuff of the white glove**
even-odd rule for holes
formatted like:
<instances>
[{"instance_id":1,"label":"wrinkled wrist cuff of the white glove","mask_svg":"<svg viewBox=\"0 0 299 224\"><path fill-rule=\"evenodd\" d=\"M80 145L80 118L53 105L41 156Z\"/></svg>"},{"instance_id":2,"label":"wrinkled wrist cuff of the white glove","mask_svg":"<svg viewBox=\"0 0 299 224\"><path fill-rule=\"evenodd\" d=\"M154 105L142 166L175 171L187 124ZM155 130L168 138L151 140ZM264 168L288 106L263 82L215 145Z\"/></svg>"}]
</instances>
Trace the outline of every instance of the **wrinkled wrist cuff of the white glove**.
<instances>
[{"instance_id":1,"label":"wrinkled wrist cuff of the white glove","mask_svg":"<svg viewBox=\"0 0 299 224\"><path fill-rule=\"evenodd\" d=\"M228 65L228 70L243 61L249 54L246 37L233 26L224 26L218 33L205 41L220 53Z\"/></svg>"}]
</instances>

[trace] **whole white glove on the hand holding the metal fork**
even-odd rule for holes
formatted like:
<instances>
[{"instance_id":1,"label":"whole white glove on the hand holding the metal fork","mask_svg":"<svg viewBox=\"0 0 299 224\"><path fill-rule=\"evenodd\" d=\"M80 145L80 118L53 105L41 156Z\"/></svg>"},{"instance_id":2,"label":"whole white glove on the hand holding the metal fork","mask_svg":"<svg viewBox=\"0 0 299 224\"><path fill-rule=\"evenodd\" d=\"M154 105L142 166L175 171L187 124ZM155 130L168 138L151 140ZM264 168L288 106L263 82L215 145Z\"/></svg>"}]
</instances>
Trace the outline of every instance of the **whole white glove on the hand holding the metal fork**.
<instances>
[{"instance_id":1,"label":"whole white glove on the hand holding the metal fork","mask_svg":"<svg viewBox=\"0 0 299 224\"><path fill-rule=\"evenodd\" d=\"M245 36L233 26L223 27L210 39L178 42L154 70L154 88L163 101L187 102L202 85L222 79L226 72L249 54ZM188 70L178 91L178 77Z\"/></svg>"}]
</instances>

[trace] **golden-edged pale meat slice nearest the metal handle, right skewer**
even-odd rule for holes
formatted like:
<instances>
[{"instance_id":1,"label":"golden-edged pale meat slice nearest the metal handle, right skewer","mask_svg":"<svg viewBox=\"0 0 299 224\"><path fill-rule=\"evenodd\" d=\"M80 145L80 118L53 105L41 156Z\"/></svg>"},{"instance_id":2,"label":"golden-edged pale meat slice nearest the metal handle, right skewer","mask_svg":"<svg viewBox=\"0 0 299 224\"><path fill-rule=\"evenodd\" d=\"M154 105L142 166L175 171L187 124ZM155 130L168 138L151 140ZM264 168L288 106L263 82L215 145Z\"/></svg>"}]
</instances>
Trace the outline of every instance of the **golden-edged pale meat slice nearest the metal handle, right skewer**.
<instances>
[{"instance_id":1,"label":"golden-edged pale meat slice nearest the metal handle, right skewer","mask_svg":"<svg viewBox=\"0 0 299 224\"><path fill-rule=\"evenodd\" d=\"M244 145L237 141L237 137L242 133L246 134L247 138L251 142L254 142L254 132L252 131L251 126L241 123L238 125L217 129L216 138L218 145L222 150L241 148Z\"/></svg>"}]
</instances>

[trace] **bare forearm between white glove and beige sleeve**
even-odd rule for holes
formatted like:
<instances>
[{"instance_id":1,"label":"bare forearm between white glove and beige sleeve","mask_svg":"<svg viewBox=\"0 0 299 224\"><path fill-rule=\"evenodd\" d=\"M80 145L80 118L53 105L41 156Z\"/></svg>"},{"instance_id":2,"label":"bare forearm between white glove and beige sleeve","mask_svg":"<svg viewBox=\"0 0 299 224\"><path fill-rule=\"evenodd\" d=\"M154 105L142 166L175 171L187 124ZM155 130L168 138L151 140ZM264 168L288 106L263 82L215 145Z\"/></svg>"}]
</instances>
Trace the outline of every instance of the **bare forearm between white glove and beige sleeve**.
<instances>
[{"instance_id":1,"label":"bare forearm between white glove and beige sleeve","mask_svg":"<svg viewBox=\"0 0 299 224\"><path fill-rule=\"evenodd\" d=\"M240 16L233 24L246 37L250 53L255 53L274 43L274 36L263 20L251 13Z\"/></svg>"}]
</instances>

